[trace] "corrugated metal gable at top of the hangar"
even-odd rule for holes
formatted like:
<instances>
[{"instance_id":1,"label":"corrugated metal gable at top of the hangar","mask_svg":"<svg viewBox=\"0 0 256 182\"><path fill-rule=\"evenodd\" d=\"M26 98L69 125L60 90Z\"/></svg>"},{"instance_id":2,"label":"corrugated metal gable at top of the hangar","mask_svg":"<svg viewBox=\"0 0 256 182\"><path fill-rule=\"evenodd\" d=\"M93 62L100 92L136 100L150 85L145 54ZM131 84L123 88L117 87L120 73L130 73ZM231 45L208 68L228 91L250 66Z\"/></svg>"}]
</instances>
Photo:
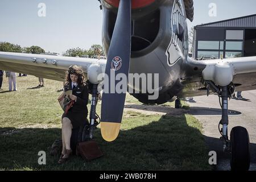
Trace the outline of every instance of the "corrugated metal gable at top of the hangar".
<instances>
[{"instance_id":1,"label":"corrugated metal gable at top of the hangar","mask_svg":"<svg viewBox=\"0 0 256 182\"><path fill-rule=\"evenodd\" d=\"M256 15L225 22L202 24L197 27L256 27Z\"/></svg>"}]
</instances>

